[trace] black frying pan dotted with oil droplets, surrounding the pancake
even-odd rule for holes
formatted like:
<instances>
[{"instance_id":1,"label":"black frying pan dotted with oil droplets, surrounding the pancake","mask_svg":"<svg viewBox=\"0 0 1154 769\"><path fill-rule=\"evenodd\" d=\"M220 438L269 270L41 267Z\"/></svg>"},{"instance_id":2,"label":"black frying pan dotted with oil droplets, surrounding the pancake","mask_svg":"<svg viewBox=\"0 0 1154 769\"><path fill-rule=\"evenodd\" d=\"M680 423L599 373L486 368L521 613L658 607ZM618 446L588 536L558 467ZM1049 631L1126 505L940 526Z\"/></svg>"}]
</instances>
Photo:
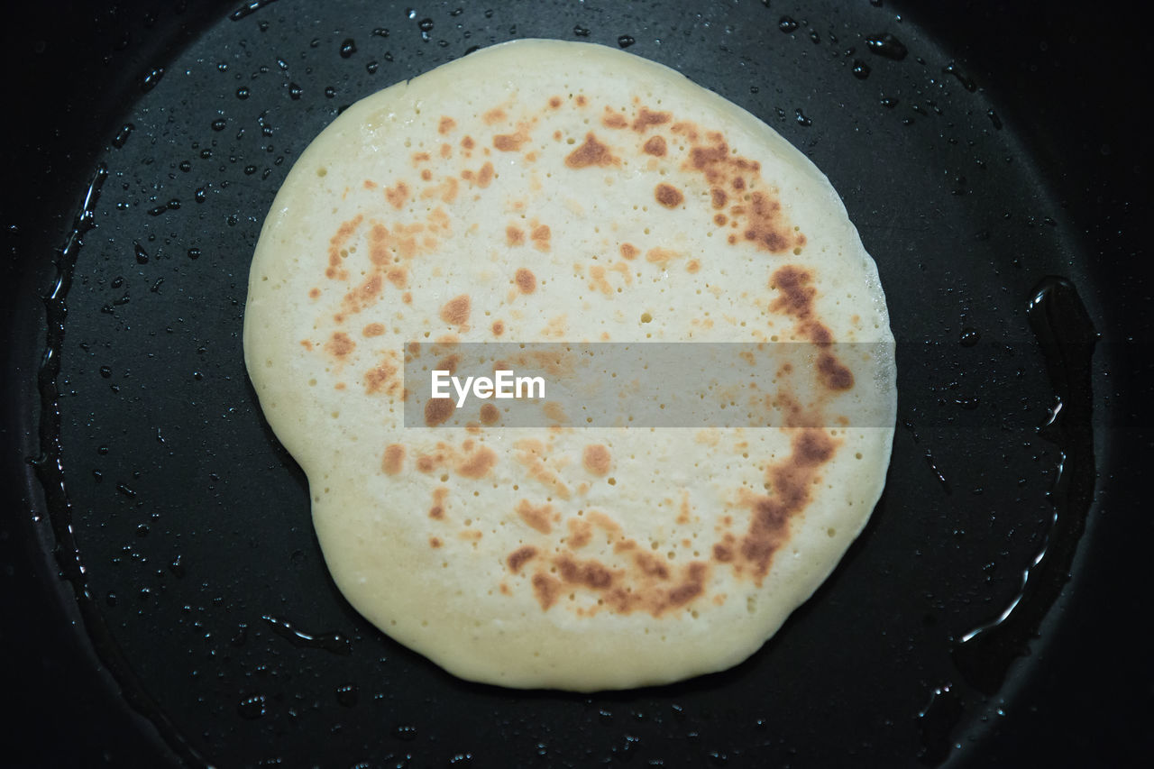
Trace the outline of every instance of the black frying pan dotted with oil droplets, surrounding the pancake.
<instances>
[{"instance_id":1,"label":"black frying pan dotted with oil droplets, surrounding the pancake","mask_svg":"<svg viewBox=\"0 0 1154 769\"><path fill-rule=\"evenodd\" d=\"M1137 24L865 1L10 14L6 764L1121 766L1154 747ZM878 262L900 378L885 495L732 671L598 695L447 675L340 598L247 382L248 260L293 159L357 98L517 37L628 47L758 114Z\"/></svg>"}]
</instances>

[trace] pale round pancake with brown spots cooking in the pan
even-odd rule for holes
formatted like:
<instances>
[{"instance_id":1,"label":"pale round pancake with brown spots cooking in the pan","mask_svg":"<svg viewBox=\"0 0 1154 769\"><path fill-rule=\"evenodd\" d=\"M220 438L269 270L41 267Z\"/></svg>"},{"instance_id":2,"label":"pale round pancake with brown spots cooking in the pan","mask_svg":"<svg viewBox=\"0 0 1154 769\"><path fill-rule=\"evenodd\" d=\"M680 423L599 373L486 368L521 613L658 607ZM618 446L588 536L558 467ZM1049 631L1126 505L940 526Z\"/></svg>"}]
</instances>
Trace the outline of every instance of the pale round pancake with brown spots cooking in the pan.
<instances>
[{"instance_id":1,"label":"pale round pancake with brown spots cooking in the pan","mask_svg":"<svg viewBox=\"0 0 1154 769\"><path fill-rule=\"evenodd\" d=\"M736 105L593 44L493 46L350 106L269 211L243 342L337 587L474 681L742 662L835 567L890 460L885 298L829 180ZM405 375L497 342L804 344L812 376L754 378L749 424L514 427Z\"/></svg>"}]
</instances>

